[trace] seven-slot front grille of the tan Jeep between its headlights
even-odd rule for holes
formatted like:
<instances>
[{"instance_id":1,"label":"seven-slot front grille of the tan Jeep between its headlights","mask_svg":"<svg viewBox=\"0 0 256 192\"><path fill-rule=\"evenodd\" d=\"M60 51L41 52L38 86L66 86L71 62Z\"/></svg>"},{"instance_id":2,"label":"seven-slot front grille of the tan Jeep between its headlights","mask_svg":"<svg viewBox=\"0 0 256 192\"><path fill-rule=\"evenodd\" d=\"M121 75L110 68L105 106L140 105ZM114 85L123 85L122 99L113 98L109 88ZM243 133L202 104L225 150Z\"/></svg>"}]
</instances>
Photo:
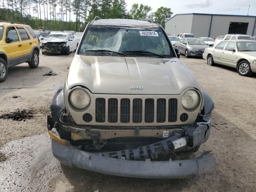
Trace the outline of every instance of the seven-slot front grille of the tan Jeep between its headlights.
<instances>
[{"instance_id":1,"label":"seven-slot front grille of the tan Jeep between its headlights","mask_svg":"<svg viewBox=\"0 0 256 192\"><path fill-rule=\"evenodd\" d=\"M106 100L108 101L107 106ZM122 124L128 124L130 122L134 124L142 122L146 124L154 122L173 123L177 121L178 100L176 98L147 98L144 100L140 98L134 98L132 100L128 98L122 98L120 100L117 98L96 98L95 105L95 120L98 123L104 123L106 116L108 123L120 122ZM106 110L108 112L107 114Z\"/></svg>"}]
</instances>

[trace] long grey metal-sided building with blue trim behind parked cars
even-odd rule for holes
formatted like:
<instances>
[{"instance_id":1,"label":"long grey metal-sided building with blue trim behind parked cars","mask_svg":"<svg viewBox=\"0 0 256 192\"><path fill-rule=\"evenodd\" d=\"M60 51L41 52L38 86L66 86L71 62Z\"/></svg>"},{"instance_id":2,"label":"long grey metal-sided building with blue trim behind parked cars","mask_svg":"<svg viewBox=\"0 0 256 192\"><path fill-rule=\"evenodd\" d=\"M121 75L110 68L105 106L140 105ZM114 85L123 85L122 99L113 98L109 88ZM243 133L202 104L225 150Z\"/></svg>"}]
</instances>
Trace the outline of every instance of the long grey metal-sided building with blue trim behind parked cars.
<instances>
[{"instance_id":1,"label":"long grey metal-sided building with blue trim behind parked cars","mask_svg":"<svg viewBox=\"0 0 256 192\"><path fill-rule=\"evenodd\" d=\"M196 37L216 38L228 33L256 36L256 16L222 14L176 14L166 21L167 33L192 33Z\"/></svg>"}]
</instances>

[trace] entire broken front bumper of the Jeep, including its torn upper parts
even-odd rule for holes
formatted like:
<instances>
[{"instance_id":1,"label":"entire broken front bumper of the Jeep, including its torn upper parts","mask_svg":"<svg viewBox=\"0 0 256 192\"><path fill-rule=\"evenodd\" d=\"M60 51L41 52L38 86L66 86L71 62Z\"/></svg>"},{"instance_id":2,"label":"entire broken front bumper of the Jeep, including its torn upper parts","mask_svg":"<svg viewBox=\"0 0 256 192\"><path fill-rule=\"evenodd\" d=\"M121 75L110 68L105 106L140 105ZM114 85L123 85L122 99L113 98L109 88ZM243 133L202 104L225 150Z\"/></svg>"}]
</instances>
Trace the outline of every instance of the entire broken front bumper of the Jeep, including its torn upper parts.
<instances>
[{"instance_id":1,"label":"entire broken front bumper of the Jeep, including its torn upper parts","mask_svg":"<svg viewBox=\"0 0 256 192\"><path fill-rule=\"evenodd\" d=\"M210 135L211 114L204 116L200 123L183 126L186 127L186 133L190 137L184 137L186 145L181 148L175 146L175 142L179 138L171 136L137 149L107 153L91 153L72 146L70 142L60 138L56 128L51 128L49 121L50 117L48 117L48 133L52 138L52 153L62 164L70 167L135 178L186 178L198 173L210 172L216 164L213 154L210 152L204 152L192 160L151 161L148 156L151 154L152 157L157 157L159 155L157 148L159 149L159 147L162 149L162 154L166 155L170 152L170 146L173 151L182 151L182 149L188 150L206 142ZM128 153L129 155L127 155ZM134 160L128 158L130 154Z\"/></svg>"}]
</instances>

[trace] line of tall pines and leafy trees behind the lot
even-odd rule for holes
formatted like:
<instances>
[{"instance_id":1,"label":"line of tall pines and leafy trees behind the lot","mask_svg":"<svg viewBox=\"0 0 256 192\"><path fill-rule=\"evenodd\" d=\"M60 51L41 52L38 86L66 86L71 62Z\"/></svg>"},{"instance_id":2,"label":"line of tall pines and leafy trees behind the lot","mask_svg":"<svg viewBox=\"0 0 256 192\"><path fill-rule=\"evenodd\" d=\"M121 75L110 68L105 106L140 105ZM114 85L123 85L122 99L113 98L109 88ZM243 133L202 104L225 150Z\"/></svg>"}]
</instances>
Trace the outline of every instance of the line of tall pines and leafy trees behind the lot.
<instances>
[{"instance_id":1,"label":"line of tall pines and leafy trees behind the lot","mask_svg":"<svg viewBox=\"0 0 256 192\"><path fill-rule=\"evenodd\" d=\"M83 31L95 16L102 19L150 18L164 27L166 19L173 14L166 7L151 11L150 6L143 4L133 4L128 11L125 0L0 0L1 20L24 22L33 29L42 26L45 30Z\"/></svg>"}]
</instances>

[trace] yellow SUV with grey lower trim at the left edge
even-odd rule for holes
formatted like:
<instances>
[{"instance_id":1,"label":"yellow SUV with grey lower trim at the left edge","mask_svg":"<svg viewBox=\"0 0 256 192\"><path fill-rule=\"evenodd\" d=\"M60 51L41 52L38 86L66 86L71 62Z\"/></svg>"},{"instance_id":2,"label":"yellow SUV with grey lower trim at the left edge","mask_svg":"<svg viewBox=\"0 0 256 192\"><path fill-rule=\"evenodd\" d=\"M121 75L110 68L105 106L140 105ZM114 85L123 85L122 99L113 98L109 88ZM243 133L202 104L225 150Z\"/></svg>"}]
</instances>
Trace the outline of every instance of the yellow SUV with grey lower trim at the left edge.
<instances>
[{"instance_id":1,"label":"yellow SUV with grey lower trim at the left edge","mask_svg":"<svg viewBox=\"0 0 256 192\"><path fill-rule=\"evenodd\" d=\"M0 21L0 82L6 80L8 68L27 62L39 64L39 41L29 25Z\"/></svg>"}]
</instances>

